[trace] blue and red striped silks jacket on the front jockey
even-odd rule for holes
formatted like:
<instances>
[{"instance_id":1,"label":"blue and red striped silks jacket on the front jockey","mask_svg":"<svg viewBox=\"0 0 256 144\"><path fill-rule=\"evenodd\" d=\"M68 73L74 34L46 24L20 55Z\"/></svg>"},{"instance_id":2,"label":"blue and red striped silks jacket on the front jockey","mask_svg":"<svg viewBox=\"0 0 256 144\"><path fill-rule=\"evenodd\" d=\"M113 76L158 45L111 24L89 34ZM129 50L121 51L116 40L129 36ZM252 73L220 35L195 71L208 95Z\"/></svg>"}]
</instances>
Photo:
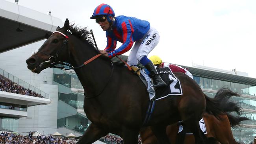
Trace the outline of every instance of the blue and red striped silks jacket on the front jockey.
<instances>
[{"instance_id":1,"label":"blue and red striped silks jacket on the front jockey","mask_svg":"<svg viewBox=\"0 0 256 144\"><path fill-rule=\"evenodd\" d=\"M106 31L107 46L104 50L113 51L111 57L121 55L132 48L135 41L141 40L150 28L150 23L135 17L118 16L112 24L112 30ZM116 48L117 41L123 43Z\"/></svg>"}]
</instances>

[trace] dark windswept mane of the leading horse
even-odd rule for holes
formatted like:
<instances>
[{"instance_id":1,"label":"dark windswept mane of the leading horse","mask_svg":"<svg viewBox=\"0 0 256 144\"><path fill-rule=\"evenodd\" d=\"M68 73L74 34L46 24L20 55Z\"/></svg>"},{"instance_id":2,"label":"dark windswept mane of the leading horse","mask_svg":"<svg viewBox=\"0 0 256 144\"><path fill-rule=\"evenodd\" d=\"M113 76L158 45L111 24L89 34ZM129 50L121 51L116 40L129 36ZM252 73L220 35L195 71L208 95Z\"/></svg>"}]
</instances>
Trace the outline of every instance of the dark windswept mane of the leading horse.
<instances>
[{"instance_id":1,"label":"dark windswept mane of the leading horse","mask_svg":"<svg viewBox=\"0 0 256 144\"><path fill-rule=\"evenodd\" d=\"M91 46L91 47L95 48L97 51L99 51L98 48L96 48L94 41L93 41L93 37L92 37L90 31L87 30L87 27L80 28L78 26L75 26L74 24L71 24L69 26L69 30L71 31L72 35L74 35L78 39L86 42L89 46Z\"/></svg>"}]
</instances>

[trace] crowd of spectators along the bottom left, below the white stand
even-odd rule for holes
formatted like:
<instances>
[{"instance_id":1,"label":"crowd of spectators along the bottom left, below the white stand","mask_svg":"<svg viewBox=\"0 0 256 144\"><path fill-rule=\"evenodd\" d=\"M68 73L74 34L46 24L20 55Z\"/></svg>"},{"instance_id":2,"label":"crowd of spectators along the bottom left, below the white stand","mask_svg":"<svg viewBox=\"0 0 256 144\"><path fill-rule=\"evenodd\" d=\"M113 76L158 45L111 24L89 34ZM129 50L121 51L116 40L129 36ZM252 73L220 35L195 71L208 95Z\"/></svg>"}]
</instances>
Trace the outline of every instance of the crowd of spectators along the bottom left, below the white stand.
<instances>
[{"instance_id":1,"label":"crowd of spectators along the bottom left, below the white stand","mask_svg":"<svg viewBox=\"0 0 256 144\"><path fill-rule=\"evenodd\" d=\"M74 141L52 135L33 136L32 132L28 136L2 132L0 133L0 144L74 144Z\"/></svg>"}]
</instances>

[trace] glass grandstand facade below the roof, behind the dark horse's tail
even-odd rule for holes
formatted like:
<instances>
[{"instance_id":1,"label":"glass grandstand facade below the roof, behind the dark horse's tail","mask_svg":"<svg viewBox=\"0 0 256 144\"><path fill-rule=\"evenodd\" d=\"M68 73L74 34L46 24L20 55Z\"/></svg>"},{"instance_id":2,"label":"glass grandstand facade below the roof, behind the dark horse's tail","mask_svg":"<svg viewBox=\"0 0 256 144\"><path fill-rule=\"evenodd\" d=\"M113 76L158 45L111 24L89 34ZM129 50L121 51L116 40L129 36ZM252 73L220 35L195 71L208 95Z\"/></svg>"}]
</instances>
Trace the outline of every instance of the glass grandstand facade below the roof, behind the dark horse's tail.
<instances>
[{"instance_id":1,"label":"glass grandstand facade below the roof, behind the dark horse's tail","mask_svg":"<svg viewBox=\"0 0 256 144\"><path fill-rule=\"evenodd\" d=\"M232 128L233 136L237 142L249 144L256 135L256 86L245 85L241 83L233 83L218 79L202 78L193 76L194 80L200 85L204 93L213 98L217 90L222 87L229 88L230 90L242 94L240 97L233 96L231 100L239 103L243 108L241 116L245 116L250 120L242 121L242 126L236 129ZM210 92L209 92L210 91ZM233 113L232 113L233 114ZM234 115L236 115L234 113Z\"/></svg>"}]
</instances>

